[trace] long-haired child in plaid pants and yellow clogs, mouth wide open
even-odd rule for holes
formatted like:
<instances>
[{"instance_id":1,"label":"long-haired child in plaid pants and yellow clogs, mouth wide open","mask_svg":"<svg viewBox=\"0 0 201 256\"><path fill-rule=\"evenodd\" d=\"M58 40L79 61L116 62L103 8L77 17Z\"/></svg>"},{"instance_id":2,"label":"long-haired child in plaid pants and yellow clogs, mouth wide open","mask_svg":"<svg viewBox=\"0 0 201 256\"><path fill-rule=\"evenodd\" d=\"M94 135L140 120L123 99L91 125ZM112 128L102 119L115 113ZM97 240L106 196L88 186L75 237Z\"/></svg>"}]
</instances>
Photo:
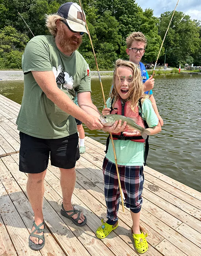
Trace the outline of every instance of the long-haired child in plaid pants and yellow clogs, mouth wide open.
<instances>
[{"instance_id":1,"label":"long-haired child in plaid pants and yellow clogs, mouth wide open","mask_svg":"<svg viewBox=\"0 0 201 256\"><path fill-rule=\"evenodd\" d=\"M161 126L152 108L151 101L144 94L141 72L131 61L121 59L116 61L113 88L106 105L107 108L103 109L102 112L103 115L124 113L126 117L136 119L137 124L141 127L145 128L146 121L149 127L146 129L146 134L153 135L161 131ZM122 128L124 128L125 124L120 125L121 123L119 121L117 127L115 129L111 128L110 132L114 136L117 164L122 190L125 195L126 207L130 208L134 246L138 253L145 253L148 249L147 234L144 234L143 229L140 227L140 211L143 203L141 194L144 184L143 162L145 140L140 136L139 131L124 131ZM111 139L108 151L103 160L103 175L107 221L104 223L102 219L102 225L96 230L96 236L100 239L107 237L111 231L118 227L120 189Z\"/></svg>"}]
</instances>

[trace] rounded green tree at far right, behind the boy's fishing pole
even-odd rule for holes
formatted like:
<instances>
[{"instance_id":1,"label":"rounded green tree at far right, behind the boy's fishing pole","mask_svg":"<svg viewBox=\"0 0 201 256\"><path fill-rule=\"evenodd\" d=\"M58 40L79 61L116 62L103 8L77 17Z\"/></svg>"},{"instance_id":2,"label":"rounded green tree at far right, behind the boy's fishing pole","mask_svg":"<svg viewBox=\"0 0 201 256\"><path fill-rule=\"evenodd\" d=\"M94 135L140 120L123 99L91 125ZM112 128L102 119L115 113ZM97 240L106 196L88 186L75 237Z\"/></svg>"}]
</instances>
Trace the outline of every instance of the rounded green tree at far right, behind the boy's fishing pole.
<instances>
[{"instance_id":1,"label":"rounded green tree at far right, behind the boy's fishing pole","mask_svg":"<svg viewBox=\"0 0 201 256\"><path fill-rule=\"evenodd\" d=\"M165 12L160 16L159 35L163 38L170 22L172 12ZM169 64L178 66L185 64L188 56L193 56L200 49L200 26L196 20L191 20L189 15L183 12L175 12L170 29L164 42L166 49L172 49L167 53Z\"/></svg>"}]
</instances>

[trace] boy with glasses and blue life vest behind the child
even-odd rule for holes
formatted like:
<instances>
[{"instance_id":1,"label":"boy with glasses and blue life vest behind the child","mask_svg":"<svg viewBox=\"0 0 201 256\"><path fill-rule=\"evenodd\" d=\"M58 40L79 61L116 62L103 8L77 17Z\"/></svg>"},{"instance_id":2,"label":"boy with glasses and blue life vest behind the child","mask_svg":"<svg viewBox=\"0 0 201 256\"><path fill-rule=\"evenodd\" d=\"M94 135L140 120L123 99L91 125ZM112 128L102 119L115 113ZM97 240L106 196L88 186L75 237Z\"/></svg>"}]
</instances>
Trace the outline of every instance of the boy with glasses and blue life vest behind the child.
<instances>
[{"instance_id":1,"label":"boy with glasses and blue life vest behind the child","mask_svg":"<svg viewBox=\"0 0 201 256\"><path fill-rule=\"evenodd\" d=\"M152 76L149 78L149 75L144 64L140 62L144 55L146 45L147 39L145 38L145 35L141 32L133 32L126 38L126 53L129 55L129 61L132 61L133 63L139 66L143 78L144 91L146 94L148 94L150 91L149 99L151 100L153 109L157 117L159 118L160 125L163 126L163 119L161 118L158 112L156 101L155 98L153 97L153 93L151 90L154 86L155 79L152 78Z\"/></svg>"}]
</instances>

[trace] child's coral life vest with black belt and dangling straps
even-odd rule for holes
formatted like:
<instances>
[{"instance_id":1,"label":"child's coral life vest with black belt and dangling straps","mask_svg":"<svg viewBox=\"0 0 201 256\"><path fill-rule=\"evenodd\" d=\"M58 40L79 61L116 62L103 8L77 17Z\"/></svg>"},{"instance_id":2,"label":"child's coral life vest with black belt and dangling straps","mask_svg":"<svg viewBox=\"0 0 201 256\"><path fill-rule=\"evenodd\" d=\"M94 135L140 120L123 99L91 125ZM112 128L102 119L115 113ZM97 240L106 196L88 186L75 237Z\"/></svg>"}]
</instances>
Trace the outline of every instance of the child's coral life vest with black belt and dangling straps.
<instances>
[{"instance_id":1,"label":"child's coral life vest with black belt and dangling straps","mask_svg":"<svg viewBox=\"0 0 201 256\"><path fill-rule=\"evenodd\" d=\"M123 116L126 116L126 114L128 113L128 117L133 117L133 113L130 112L130 106L128 106L128 103L124 104L120 99L114 104L114 109L112 107L113 105L113 102L114 102L114 98L112 99L111 101L111 111L110 111L110 114L113 114L113 113L116 113L116 114L122 114ZM120 105L121 104L121 105ZM141 112L138 111L138 113L134 113L134 117L137 117L139 118L139 122L137 122L138 125L142 126L142 127L145 127L145 128L148 128L148 124L146 122L146 120L143 120L142 118L142 103L141 103L141 99L139 99L138 101L138 110L139 110L139 107L141 109ZM115 111L116 110L116 111ZM131 109L132 110L132 109ZM133 110L132 110L133 112ZM112 137L113 139L121 139L121 140L132 140L132 141L136 141L136 142L145 142L145 151L144 151L144 165L146 165L146 161L147 161L147 156L148 156L148 153L149 153L149 135L147 136L147 139L144 140L142 136L124 136L123 133L117 133L117 134L113 134L112 133ZM105 153L107 153L107 150L108 150L108 147L109 147L109 142L110 142L110 135L107 137L107 141L106 141L106 150L105 150Z\"/></svg>"}]
</instances>

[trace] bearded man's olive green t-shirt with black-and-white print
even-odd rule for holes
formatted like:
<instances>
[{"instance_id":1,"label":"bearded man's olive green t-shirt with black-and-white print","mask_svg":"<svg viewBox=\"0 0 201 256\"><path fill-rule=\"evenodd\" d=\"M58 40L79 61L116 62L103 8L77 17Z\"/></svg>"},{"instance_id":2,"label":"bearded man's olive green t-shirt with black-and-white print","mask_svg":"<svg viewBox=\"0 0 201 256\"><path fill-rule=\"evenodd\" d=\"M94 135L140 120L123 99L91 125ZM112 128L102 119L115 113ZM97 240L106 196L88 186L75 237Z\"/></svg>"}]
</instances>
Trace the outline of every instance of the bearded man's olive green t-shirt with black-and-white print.
<instances>
[{"instance_id":1,"label":"bearded man's olive green t-shirt with black-and-white print","mask_svg":"<svg viewBox=\"0 0 201 256\"><path fill-rule=\"evenodd\" d=\"M57 139L77 132L75 118L62 111L43 93L31 71L53 71L58 88L74 99L77 93L91 92L87 62L77 51L70 57L56 46L53 36L39 35L27 44L23 57L24 94L16 121L28 135Z\"/></svg>"}]
</instances>

